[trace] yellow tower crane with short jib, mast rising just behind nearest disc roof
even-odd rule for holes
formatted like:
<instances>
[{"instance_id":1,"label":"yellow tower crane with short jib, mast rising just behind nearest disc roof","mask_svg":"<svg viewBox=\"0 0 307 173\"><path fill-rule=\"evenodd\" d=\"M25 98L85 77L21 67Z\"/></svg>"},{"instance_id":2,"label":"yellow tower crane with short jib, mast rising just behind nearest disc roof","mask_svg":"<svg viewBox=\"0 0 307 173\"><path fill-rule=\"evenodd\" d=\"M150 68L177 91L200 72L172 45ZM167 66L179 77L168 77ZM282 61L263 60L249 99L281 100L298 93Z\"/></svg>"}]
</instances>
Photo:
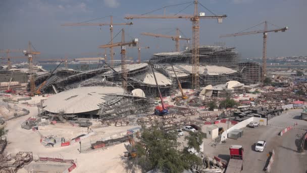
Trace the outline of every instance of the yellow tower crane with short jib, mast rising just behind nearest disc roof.
<instances>
[{"instance_id":1,"label":"yellow tower crane with short jib, mast rising just behind nearest disc roof","mask_svg":"<svg viewBox=\"0 0 307 173\"><path fill-rule=\"evenodd\" d=\"M122 77L127 78L127 65L126 65L126 46L134 46L136 47L138 43L138 39L134 38L132 41L125 42L125 30L122 29L122 41L121 42L115 42L110 45L101 45L98 48L114 48L114 47L121 47L121 65L122 65ZM123 81L123 88L125 91L127 91L127 81Z\"/></svg>"}]
</instances>

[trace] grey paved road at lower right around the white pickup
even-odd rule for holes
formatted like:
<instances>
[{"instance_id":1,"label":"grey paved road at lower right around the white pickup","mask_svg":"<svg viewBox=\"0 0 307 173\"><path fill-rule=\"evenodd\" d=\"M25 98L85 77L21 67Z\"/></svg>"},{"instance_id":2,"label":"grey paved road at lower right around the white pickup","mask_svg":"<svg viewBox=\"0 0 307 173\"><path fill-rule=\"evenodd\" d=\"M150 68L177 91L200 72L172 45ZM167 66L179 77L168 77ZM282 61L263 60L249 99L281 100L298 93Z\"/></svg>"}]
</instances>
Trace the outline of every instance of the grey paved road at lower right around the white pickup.
<instances>
[{"instance_id":1,"label":"grey paved road at lower right around the white pickup","mask_svg":"<svg viewBox=\"0 0 307 173\"><path fill-rule=\"evenodd\" d=\"M259 126L258 128L243 128L243 137L232 140L227 139L226 144L218 145L215 149L205 148L205 153L210 156L218 156L222 159L229 160L230 145L242 145L244 148L243 172L264 172L265 165L268 161L268 154L273 149L275 159L271 172L298 172L306 173L307 171L307 151L298 153L295 140L297 134L302 134L307 129L307 121L297 119L300 110L284 112L280 116L269 120L269 126ZM291 131L285 133L282 137L278 136L279 132L286 126L298 125ZM267 147L264 152L255 152L254 144L258 140L266 140Z\"/></svg>"}]
</instances>

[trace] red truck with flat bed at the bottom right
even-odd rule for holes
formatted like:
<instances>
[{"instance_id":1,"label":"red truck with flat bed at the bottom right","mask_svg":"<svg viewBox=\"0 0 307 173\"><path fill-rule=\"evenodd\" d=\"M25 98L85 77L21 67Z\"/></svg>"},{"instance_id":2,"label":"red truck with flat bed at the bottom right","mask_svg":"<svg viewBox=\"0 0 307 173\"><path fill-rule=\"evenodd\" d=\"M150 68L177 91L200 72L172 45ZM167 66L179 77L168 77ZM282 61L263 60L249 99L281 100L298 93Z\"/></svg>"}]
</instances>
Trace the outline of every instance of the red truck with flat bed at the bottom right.
<instances>
[{"instance_id":1,"label":"red truck with flat bed at the bottom right","mask_svg":"<svg viewBox=\"0 0 307 173\"><path fill-rule=\"evenodd\" d=\"M230 160L225 173L239 173L243 170L243 147L241 145L231 145L229 148Z\"/></svg>"}]
</instances>

